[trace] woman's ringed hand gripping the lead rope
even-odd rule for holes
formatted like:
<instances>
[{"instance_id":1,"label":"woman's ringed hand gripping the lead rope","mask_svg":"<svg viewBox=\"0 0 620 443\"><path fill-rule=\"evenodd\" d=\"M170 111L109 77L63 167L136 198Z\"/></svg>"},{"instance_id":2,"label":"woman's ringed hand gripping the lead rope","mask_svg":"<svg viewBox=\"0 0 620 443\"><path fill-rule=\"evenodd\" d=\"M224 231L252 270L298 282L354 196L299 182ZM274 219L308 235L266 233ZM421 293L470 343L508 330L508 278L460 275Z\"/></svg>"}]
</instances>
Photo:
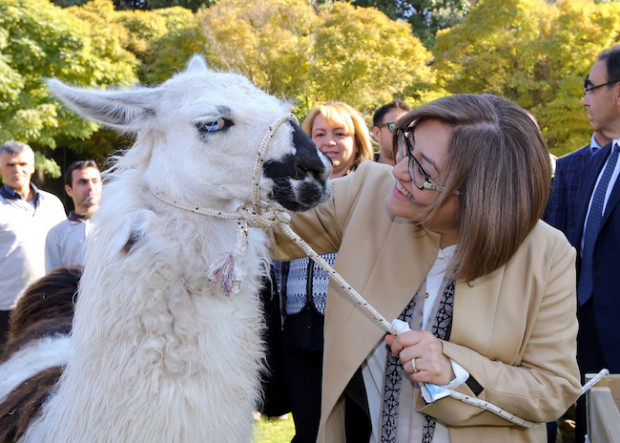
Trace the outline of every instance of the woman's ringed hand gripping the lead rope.
<instances>
[{"instance_id":1,"label":"woman's ringed hand gripping the lead rope","mask_svg":"<svg viewBox=\"0 0 620 443\"><path fill-rule=\"evenodd\" d=\"M392 348L392 355L400 358L405 372L415 382L447 385L456 377L450 359L443 355L441 340L429 331L387 335L385 342Z\"/></svg>"}]
</instances>

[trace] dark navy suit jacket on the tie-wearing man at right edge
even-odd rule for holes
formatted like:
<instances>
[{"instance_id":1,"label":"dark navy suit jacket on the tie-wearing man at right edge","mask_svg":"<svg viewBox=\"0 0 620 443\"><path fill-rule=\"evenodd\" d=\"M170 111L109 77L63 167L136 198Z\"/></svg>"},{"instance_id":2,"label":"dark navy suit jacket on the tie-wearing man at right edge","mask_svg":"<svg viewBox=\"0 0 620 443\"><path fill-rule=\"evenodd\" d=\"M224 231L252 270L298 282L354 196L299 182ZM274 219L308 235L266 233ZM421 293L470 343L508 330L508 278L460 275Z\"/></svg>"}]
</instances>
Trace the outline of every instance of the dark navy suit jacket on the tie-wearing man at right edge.
<instances>
[{"instance_id":1,"label":"dark navy suit jacket on the tie-wearing man at right edge","mask_svg":"<svg viewBox=\"0 0 620 443\"><path fill-rule=\"evenodd\" d=\"M583 225L588 212L590 196L594 192L596 179L605 165L611 152L611 145L607 145L592 156L583 176L583 186L577 196L577 212L575 229L568 239L578 250L581 250ZM577 271L581 264L577 254ZM613 185L603 220L601 230L594 245L593 258L593 296L594 324L581 324L581 328L596 328L601 349L607 368L612 373L620 372L620 285L618 274L620 271L620 179ZM584 363L584 362L580 362ZM585 362L587 364L587 362Z\"/></svg>"}]
</instances>

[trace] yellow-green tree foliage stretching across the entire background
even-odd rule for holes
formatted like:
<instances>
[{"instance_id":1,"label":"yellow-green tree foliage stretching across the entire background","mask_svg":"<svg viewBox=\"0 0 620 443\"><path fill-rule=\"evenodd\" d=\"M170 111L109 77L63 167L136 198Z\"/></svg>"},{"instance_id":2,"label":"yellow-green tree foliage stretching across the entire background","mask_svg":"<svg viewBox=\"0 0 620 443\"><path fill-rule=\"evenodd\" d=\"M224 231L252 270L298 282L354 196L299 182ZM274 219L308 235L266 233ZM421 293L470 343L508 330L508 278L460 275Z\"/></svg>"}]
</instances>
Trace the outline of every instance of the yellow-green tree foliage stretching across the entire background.
<instances>
[{"instance_id":1,"label":"yellow-green tree foliage stretching across the entire background","mask_svg":"<svg viewBox=\"0 0 620 443\"><path fill-rule=\"evenodd\" d=\"M196 52L291 100L300 119L327 100L370 119L393 98L415 105L451 93L501 95L536 115L559 155L589 139L583 79L600 51L620 43L620 2L608 1L54 3L0 0L0 140L30 143L48 174L58 173L59 146L102 160L131 140L60 105L43 78L156 84ZM160 6L172 7L151 10ZM431 54L422 41L430 47L437 29Z\"/></svg>"}]
</instances>

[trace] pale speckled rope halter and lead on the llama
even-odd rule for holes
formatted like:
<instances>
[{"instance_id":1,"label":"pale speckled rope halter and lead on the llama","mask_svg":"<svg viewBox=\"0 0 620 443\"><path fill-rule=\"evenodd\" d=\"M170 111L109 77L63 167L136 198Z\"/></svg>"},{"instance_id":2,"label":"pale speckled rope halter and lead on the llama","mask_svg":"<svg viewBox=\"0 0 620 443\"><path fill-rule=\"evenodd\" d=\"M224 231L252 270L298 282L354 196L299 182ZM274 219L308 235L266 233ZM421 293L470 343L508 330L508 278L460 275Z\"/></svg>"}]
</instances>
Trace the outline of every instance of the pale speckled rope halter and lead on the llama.
<instances>
[{"instance_id":1,"label":"pale speckled rope halter and lead on the llama","mask_svg":"<svg viewBox=\"0 0 620 443\"><path fill-rule=\"evenodd\" d=\"M248 226L260 229L269 229L272 228L274 225L277 225L289 239L291 239L297 246L299 246L308 257L314 260L314 262L318 264L327 273L327 275L329 275L331 279L334 280L334 282L345 292L345 294L349 298L353 300L355 304L360 307L360 309L362 309L373 320L379 323L387 332L392 335L397 335L397 331L392 326L392 324L389 323L366 300L364 300L364 298L351 285L349 285L347 281L342 278L342 276L333 267L331 267L319 254L316 253L316 251L314 251L314 249L310 247L310 245L308 245L308 243L306 243L301 237L299 237L299 235L297 235L291 229L291 217L289 214L287 214L281 207L274 206L268 206L265 212L262 212L259 185L261 171L263 163L265 161L265 155L267 149L269 148L271 140L275 135L276 130L287 121L297 122L297 119L293 115L286 115L274 121L269 126L269 129L260 144L256 163L254 165L254 176L252 180L253 206L251 208L243 205L239 207L235 212L225 212L185 205L183 203L168 200L161 193L155 193L153 191L151 191L151 193L160 201L176 208L183 209L185 211L202 214L209 217L221 218L224 220L237 220L238 233L233 252L225 254L224 262L220 265L213 266L208 274L209 280L211 282L219 283L223 286L225 294L227 296L229 296L231 293L236 293L239 290L239 285L243 278L243 275L240 274L238 267L236 267L235 264L243 257L247 249ZM609 375L609 371L607 369L601 370L596 376L592 378L592 380L590 380L582 387L580 396L590 390L606 375ZM484 400L480 400L476 397L462 394L453 389L448 389L448 394L450 397L456 400L462 401L463 403L467 403L480 409L484 409L485 411L491 412L517 426L522 426L524 428L533 428L544 424L524 420L494 404L491 404Z\"/></svg>"}]
</instances>

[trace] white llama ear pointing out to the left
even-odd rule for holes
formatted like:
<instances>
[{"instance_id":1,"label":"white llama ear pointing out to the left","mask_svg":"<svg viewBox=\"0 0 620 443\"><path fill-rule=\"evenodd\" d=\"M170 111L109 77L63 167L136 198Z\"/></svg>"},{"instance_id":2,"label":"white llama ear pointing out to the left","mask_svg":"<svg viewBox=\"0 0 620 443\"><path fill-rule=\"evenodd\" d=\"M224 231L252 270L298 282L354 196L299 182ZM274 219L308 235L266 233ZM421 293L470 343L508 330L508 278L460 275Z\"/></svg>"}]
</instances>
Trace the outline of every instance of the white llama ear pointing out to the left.
<instances>
[{"instance_id":1,"label":"white llama ear pointing out to the left","mask_svg":"<svg viewBox=\"0 0 620 443\"><path fill-rule=\"evenodd\" d=\"M78 114L112 128L137 132L149 126L156 116L157 89L104 91L68 86L56 79L46 79L52 93Z\"/></svg>"}]
</instances>

